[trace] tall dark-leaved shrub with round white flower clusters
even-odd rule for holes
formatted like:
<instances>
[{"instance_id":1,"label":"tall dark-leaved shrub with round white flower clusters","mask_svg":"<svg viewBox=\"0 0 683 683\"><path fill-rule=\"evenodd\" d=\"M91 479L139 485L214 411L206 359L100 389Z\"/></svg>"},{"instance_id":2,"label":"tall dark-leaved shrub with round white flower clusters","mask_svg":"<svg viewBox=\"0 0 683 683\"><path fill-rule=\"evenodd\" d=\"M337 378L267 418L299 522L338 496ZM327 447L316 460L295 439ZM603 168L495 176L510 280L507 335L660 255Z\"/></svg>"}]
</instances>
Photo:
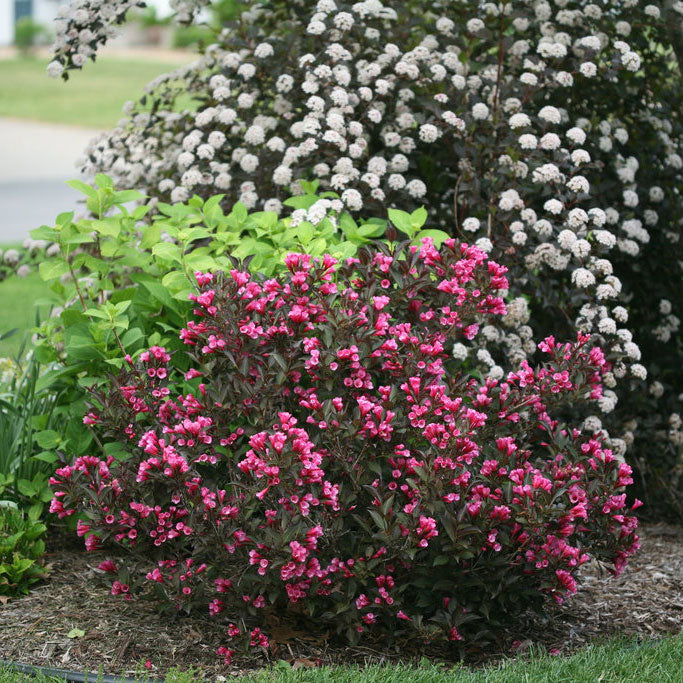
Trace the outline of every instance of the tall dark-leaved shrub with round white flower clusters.
<instances>
[{"instance_id":1,"label":"tall dark-leaved shrub with round white flower clusters","mask_svg":"<svg viewBox=\"0 0 683 683\"><path fill-rule=\"evenodd\" d=\"M94 57L132 4L72 3L49 71ZM612 369L589 424L675 501L682 23L680 1L255 3L84 164L162 201L280 211L316 179L356 214L424 204L511 265L508 313L468 362L501 377L539 336L596 335Z\"/></svg>"}]
</instances>

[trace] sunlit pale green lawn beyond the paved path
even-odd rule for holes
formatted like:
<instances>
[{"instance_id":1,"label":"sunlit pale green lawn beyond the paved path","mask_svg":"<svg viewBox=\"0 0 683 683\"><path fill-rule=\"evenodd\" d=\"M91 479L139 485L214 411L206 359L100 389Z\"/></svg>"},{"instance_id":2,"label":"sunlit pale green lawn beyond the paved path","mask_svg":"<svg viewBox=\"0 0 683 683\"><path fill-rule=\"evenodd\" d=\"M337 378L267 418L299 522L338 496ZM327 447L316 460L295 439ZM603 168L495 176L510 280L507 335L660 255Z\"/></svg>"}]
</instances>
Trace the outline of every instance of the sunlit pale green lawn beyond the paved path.
<instances>
[{"instance_id":1,"label":"sunlit pale green lawn beyond the paved path","mask_svg":"<svg viewBox=\"0 0 683 683\"><path fill-rule=\"evenodd\" d=\"M188 53L187 62L195 56ZM128 61L106 57L72 72L67 82L49 78L47 60L16 57L0 60L0 116L90 128L111 128L127 100L182 62Z\"/></svg>"}]
</instances>

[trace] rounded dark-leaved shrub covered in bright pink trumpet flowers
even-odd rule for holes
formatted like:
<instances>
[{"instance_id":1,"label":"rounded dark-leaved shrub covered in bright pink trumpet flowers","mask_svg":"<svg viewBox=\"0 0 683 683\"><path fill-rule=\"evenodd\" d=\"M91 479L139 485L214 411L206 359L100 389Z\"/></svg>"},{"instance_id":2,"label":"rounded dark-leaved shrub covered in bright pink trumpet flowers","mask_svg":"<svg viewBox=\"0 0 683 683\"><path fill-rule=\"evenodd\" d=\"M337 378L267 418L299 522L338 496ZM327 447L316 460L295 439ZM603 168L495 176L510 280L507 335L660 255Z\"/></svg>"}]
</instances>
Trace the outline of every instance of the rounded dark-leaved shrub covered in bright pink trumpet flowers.
<instances>
[{"instance_id":1,"label":"rounded dark-leaved shrub covered in bright pink trumpet flowers","mask_svg":"<svg viewBox=\"0 0 683 683\"><path fill-rule=\"evenodd\" d=\"M270 613L364 634L481 641L638 547L631 470L560 422L609 370L587 335L478 380L452 354L505 314L506 268L447 240L287 257L272 279L197 273L181 338L95 394L109 448L51 480L114 595L151 587L226 622L219 651L267 647Z\"/></svg>"}]
</instances>

